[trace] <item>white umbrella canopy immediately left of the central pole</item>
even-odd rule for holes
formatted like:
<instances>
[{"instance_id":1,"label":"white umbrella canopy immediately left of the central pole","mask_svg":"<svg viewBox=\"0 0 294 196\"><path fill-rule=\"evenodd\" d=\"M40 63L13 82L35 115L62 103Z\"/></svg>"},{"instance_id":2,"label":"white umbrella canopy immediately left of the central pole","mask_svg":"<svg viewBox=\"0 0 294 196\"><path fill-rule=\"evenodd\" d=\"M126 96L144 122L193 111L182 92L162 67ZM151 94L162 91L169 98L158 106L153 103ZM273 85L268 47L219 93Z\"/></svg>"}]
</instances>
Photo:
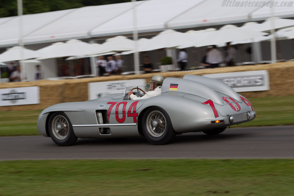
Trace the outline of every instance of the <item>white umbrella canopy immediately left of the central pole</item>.
<instances>
[{"instance_id":1,"label":"white umbrella canopy immediately left of the central pole","mask_svg":"<svg viewBox=\"0 0 294 196\"><path fill-rule=\"evenodd\" d=\"M128 39L125 36L116 36L106 39L99 47L93 49L88 55L101 54L116 51L130 51L134 50L135 41Z\"/></svg>"}]
</instances>

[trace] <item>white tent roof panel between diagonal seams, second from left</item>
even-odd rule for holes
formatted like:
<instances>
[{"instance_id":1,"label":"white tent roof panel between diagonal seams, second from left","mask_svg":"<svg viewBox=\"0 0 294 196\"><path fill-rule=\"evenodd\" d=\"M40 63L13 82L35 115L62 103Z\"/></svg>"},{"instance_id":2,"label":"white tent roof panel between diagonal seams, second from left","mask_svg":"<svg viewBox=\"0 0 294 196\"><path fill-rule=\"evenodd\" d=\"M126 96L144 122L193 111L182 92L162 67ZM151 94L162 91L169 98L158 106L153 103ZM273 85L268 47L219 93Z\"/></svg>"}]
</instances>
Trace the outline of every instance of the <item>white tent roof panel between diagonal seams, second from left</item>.
<instances>
[{"instance_id":1,"label":"white tent roof panel between diagonal seams, second from left","mask_svg":"<svg viewBox=\"0 0 294 196\"><path fill-rule=\"evenodd\" d=\"M136 4L142 4L143 2L144 1L138 1ZM75 9L66 16L59 18L57 21L30 33L24 38L24 42L87 38L92 29L131 8L132 3L128 2Z\"/></svg>"}]
</instances>

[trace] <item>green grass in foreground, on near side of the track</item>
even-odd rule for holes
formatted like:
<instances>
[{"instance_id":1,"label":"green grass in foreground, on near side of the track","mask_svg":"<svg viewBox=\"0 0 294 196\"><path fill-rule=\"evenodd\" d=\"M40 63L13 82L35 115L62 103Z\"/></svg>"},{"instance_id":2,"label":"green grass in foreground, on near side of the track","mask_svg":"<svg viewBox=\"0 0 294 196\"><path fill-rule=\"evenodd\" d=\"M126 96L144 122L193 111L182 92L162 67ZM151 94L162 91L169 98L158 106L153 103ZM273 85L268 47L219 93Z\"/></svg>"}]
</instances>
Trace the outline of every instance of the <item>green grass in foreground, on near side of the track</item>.
<instances>
[{"instance_id":1,"label":"green grass in foreground, on near side of the track","mask_svg":"<svg viewBox=\"0 0 294 196\"><path fill-rule=\"evenodd\" d=\"M293 195L294 159L0 162L1 195Z\"/></svg>"}]
</instances>

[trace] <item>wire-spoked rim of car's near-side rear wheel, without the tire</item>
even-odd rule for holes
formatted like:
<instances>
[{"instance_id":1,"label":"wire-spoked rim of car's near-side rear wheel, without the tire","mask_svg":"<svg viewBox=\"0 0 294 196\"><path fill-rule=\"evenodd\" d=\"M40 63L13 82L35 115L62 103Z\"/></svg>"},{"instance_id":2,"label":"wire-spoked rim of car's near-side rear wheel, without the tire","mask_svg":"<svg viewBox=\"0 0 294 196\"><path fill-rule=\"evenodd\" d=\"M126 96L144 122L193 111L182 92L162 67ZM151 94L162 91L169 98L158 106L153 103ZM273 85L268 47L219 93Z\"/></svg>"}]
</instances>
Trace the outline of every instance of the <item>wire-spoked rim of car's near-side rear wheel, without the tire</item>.
<instances>
[{"instance_id":1,"label":"wire-spoked rim of car's near-side rear wheel, without the tire","mask_svg":"<svg viewBox=\"0 0 294 196\"><path fill-rule=\"evenodd\" d=\"M166 118L160 111L154 110L147 116L146 128L153 137L160 137L166 131Z\"/></svg>"}]
</instances>

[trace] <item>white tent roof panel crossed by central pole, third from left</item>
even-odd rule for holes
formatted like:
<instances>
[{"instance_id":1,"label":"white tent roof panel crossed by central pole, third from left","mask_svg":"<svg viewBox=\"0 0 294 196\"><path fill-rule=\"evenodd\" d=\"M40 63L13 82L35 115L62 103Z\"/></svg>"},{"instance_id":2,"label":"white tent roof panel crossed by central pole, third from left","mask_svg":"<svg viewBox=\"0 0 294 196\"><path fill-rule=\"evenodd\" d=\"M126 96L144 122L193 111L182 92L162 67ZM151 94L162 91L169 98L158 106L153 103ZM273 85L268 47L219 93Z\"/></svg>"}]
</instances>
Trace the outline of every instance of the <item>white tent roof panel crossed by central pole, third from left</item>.
<instances>
[{"instance_id":1,"label":"white tent roof panel crossed by central pole, third from left","mask_svg":"<svg viewBox=\"0 0 294 196\"><path fill-rule=\"evenodd\" d=\"M163 31L165 22L185 12L203 0L149 0L136 7L138 32ZM92 36L131 33L133 31L133 10L98 26Z\"/></svg>"}]
</instances>

